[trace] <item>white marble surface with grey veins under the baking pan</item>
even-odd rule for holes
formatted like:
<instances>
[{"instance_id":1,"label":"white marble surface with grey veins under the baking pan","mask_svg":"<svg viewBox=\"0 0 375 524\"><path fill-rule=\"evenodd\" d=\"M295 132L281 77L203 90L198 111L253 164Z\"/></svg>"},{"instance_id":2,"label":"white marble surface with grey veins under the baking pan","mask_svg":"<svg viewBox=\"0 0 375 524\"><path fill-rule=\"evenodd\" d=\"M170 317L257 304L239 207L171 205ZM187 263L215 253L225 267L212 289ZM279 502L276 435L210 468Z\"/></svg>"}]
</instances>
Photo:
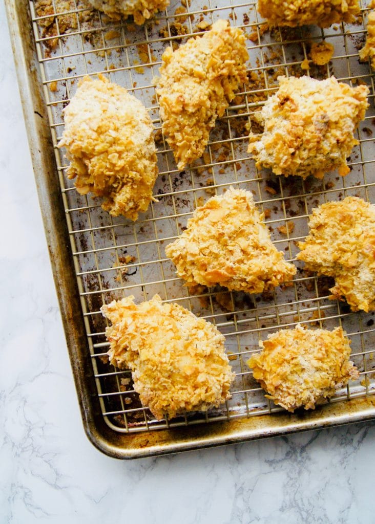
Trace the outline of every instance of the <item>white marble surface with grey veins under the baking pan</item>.
<instances>
[{"instance_id":1,"label":"white marble surface with grey veins under the baking pan","mask_svg":"<svg viewBox=\"0 0 375 524\"><path fill-rule=\"evenodd\" d=\"M132 462L89 443L3 3L0 48L0 523L375 522L375 423Z\"/></svg>"}]
</instances>

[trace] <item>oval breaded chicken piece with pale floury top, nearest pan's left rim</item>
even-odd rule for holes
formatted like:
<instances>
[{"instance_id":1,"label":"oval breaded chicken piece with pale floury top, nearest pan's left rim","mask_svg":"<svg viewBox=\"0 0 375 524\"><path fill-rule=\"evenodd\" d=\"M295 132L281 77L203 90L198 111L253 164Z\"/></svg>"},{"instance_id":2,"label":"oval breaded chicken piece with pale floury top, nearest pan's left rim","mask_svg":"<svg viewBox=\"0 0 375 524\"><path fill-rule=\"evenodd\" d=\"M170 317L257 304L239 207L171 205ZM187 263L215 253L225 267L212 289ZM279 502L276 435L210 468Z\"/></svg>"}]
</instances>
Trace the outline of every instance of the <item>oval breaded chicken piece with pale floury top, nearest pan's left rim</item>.
<instances>
[{"instance_id":1,"label":"oval breaded chicken piece with pale floury top, nearest pan's left rim","mask_svg":"<svg viewBox=\"0 0 375 524\"><path fill-rule=\"evenodd\" d=\"M84 77L64 110L66 147L80 194L102 196L111 215L136 220L153 199L158 174L153 125L144 105L99 75Z\"/></svg>"}]
</instances>

